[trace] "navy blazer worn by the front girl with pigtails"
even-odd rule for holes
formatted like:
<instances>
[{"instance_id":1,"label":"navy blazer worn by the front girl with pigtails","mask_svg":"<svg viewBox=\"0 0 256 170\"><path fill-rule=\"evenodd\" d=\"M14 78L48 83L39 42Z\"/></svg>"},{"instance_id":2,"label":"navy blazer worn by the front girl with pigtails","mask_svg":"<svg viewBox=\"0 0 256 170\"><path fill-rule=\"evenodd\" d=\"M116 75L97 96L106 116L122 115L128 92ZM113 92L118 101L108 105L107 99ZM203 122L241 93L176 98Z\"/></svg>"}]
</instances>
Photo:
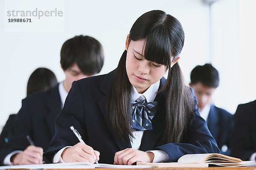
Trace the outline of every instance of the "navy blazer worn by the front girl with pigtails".
<instances>
[{"instance_id":1,"label":"navy blazer worn by the front girl with pigtails","mask_svg":"<svg viewBox=\"0 0 256 170\"><path fill-rule=\"evenodd\" d=\"M113 133L106 113L107 94L113 75L114 71L73 82L64 108L55 120L55 136L50 142L49 149L44 153L44 161L52 162L58 150L79 142L70 130L70 126L79 131L86 144L100 152L99 163L113 164L116 152L131 148L130 141L122 141ZM161 79L160 86L163 86L165 80L165 78ZM195 95L194 98L196 100ZM186 141L164 143L164 94L157 94L154 101L158 101L159 106L151 121L153 129L144 132L140 150L163 150L168 153L169 162L177 161L180 156L187 153L219 153L215 139L209 132L204 119L199 116L196 105L195 116L187 129Z\"/></svg>"}]
</instances>

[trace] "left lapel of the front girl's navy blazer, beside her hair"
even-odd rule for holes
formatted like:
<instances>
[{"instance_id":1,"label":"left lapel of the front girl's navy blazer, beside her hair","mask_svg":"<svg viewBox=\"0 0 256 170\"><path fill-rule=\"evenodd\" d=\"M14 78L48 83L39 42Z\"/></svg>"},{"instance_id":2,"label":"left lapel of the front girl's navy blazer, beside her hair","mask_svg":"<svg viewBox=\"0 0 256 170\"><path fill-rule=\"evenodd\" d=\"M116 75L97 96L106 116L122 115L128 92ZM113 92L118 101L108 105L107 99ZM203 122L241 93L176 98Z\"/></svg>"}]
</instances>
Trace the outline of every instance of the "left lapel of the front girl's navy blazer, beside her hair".
<instances>
[{"instance_id":1,"label":"left lapel of the front girl's navy blazer, beside her hair","mask_svg":"<svg viewBox=\"0 0 256 170\"><path fill-rule=\"evenodd\" d=\"M130 141L123 141L122 139L118 138L112 131L111 128L111 123L109 120L109 116L107 115L106 111L106 102L107 102L107 94L108 91L110 90L111 83L113 81L113 76L114 76L115 70L111 71L109 74L106 75L105 79L103 80L102 86L100 90L105 93L105 96L99 101L99 107L102 111L103 116L105 117L105 120L108 124L108 127L112 133L113 138L115 139L117 145L119 146L120 150L124 150L126 148L131 148L131 143Z\"/></svg>"}]
</instances>

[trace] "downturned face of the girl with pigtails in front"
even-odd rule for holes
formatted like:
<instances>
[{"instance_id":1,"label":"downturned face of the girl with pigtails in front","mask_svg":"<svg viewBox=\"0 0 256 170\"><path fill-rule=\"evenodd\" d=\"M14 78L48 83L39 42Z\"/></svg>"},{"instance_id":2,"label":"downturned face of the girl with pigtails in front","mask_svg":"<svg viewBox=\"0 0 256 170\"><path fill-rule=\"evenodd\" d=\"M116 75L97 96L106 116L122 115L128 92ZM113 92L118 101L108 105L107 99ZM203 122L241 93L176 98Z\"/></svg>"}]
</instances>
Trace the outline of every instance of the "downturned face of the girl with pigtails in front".
<instances>
[{"instance_id":1,"label":"downturned face of the girl with pigtails in front","mask_svg":"<svg viewBox=\"0 0 256 170\"><path fill-rule=\"evenodd\" d=\"M148 61L143 57L144 42L145 40L138 40L129 43L127 39L125 44L128 79L140 94L144 93L166 73L165 65Z\"/></svg>"}]
</instances>

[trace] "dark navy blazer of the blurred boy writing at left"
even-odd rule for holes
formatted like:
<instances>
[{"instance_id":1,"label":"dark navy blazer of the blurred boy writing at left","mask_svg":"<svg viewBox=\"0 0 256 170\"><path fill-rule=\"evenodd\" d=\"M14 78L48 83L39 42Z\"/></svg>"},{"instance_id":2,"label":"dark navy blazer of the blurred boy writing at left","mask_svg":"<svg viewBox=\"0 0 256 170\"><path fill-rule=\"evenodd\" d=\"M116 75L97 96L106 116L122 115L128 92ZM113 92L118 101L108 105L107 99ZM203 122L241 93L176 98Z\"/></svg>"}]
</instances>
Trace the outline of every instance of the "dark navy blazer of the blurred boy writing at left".
<instances>
[{"instance_id":1,"label":"dark navy blazer of the blurred boy writing at left","mask_svg":"<svg viewBox=\"0 0 256 170\"><path fill-rule=\"evenodd\" d=\"M61 98L58 85L48 91L31 94L22 100L9 140L0 153L0 162L15 150L24 150L29 146L29 135L36 146L48 149L54 135L54 121L61 111Z\"/></svg>"}]
</instances>

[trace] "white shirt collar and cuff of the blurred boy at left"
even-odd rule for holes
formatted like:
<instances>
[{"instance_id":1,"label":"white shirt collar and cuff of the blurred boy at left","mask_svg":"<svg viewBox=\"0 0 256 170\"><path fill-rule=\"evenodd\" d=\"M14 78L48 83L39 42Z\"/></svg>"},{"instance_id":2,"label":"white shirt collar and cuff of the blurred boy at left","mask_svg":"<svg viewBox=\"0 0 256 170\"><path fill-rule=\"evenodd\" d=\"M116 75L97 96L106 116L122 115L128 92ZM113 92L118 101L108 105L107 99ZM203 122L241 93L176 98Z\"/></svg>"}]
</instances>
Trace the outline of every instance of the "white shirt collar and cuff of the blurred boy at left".
<instances>
[{"instance_id":1,"label":"white shirt collar and cuff of the blurred boy at left","mask_svg":"<svg viewBox=\"0 0 256 170\"><path fill-rule=\"evenodd\" d=\"M59 94L60 94L60 97L61 97L61 108L63 108L65 99L66 99L66 97L67 97L67 91L66 91L66 89L64 88L63 82L59 83L58 90L59 90ZM22 150L15 150L15 151L13 151L12 153L9 153L9 154L4 158L3 164L6 164L6 165L13 165L13 162L11 162L11 157L12 157L14 154L16 154L16 153L23 153L23 151L22 151Z\"/></svg>"}]
</instances>

